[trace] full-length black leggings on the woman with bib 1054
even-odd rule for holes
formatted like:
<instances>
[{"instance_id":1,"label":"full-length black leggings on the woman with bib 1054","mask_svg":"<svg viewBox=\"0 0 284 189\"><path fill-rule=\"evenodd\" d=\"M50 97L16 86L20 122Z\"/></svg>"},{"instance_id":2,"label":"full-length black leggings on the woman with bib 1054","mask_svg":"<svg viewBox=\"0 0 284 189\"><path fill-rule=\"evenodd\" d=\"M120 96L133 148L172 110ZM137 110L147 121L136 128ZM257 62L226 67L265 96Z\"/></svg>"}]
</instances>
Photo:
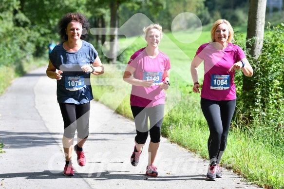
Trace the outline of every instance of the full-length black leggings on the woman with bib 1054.
<instances>
[{"instance_id":1,"label":"full-length black leggings on the woman with bib 1054","mask_svg":"<svg viewBox=\"0 0 284 189\"><path fill-rule=\"evenodd\" d=\"M200 104L210 131L208 138L210 163L216 161L219 164L227 146L227 135L236 108L236 99L215 101L201 98Z\"/></svg>"}]
</instances>

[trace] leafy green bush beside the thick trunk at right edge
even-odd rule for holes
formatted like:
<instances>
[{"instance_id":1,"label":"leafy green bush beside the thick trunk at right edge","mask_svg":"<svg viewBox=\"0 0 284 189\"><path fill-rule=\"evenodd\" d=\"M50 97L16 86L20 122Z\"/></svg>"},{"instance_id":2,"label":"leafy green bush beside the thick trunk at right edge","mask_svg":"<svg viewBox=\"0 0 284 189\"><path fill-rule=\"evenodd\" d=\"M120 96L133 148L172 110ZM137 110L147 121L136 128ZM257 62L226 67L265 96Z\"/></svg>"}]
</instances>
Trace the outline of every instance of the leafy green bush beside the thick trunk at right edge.
<instances>
[{"instance_id":1,"label":"leafy green bush beside the thick trunk at right edge","mask_svg":"<svg viewBox=\"0 0 284 189\"><path fill-rule=\"evenodd\" d=\"M250 42L254 42L253 39ZM245 49L245 44L241 43ZM250 130L254 137L266 137L265 143L279 148L284 145L284 24L267 27L262 54L249 57L254 76L249 78L253 88L238 88L238 109L234 127ZM249 49L245 50L246 52ZM236 76L236 86L243 85L244 76Z\"/></svg>"}]
</instances>

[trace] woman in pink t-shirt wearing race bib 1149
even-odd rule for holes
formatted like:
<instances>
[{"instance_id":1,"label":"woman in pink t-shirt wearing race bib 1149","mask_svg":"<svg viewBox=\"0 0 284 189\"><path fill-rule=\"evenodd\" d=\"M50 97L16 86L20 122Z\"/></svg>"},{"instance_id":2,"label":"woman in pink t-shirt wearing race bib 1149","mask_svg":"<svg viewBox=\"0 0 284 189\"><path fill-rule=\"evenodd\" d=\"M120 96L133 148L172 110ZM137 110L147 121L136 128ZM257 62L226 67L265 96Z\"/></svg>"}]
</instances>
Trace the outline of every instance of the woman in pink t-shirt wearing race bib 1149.
<instances>
[{"instance_id":1,"label":"woman in pink t-shirt wearing race bib 1149","mask_svg":"<svg viewBox=\"0 0 284 189\"><path fill-rule=\"evenodd\" d=\"M134 117L136 136L131 164L137 166L143 146L148 138L148 117L150 119L150 137L148 152L148 176L158 176L153 165L160 147L161 126L164 117L165 93L170 86L170 59L158 50L162 27L151 24L144 28L147 46L136 51L130 58L123 79L132 84L130 105Z\"/></svg>"}]
</instances>

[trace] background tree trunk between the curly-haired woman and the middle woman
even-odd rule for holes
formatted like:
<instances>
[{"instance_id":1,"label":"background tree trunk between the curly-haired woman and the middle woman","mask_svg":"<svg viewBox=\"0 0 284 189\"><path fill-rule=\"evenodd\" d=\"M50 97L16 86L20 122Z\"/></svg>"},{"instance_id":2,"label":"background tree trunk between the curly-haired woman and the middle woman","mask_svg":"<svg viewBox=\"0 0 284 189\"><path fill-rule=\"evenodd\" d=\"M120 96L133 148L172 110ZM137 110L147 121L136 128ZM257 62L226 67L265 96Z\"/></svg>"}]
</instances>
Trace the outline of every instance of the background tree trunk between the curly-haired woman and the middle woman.
<instances>
[{"instance_id":1,"label":"background tree trunk between the curly-haired woman and the middle woman","mask_svg":"<svg viewBox=\"0 0 284 189\"><path fill-rule=\"evenodd\" d=\"M118 31L118 0L112 0L110 2L111 7L111 30L114 29L114 35L110 36L110 52L109 57L113 63L116 62L118 41L117 41L117 31Z\"/></svg>"}]
</instances>

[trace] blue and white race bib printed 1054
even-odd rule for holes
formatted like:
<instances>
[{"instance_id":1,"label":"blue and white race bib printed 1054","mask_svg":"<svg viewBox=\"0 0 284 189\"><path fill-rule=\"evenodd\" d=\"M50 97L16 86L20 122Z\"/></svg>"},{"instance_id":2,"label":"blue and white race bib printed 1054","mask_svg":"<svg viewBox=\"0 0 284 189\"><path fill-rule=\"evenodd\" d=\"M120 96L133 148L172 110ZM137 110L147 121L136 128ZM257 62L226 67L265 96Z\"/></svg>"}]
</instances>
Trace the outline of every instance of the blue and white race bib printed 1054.
<instances>
[{"instance_id":1,"label":"blue and white race bib printed 1054","mask_svg":"<svg viewBox=\"0 0 284 189\"><path fill-rule=\"evenodd\" d=\"M210 89L225 90L230 88L229 75L211 75Z\"/></svg>"}]
</instances>

